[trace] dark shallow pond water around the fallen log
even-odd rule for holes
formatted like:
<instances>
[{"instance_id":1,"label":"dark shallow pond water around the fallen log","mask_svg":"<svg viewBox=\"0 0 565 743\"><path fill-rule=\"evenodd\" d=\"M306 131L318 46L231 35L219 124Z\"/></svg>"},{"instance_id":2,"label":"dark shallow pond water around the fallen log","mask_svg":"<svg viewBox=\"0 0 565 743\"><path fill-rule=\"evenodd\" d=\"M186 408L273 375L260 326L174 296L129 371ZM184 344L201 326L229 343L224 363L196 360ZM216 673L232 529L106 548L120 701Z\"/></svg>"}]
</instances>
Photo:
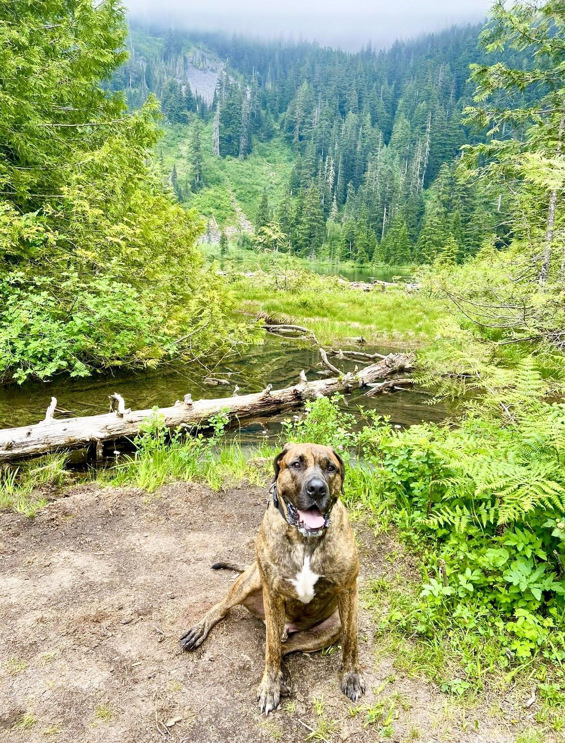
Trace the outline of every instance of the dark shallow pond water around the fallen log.
<instances>
[{"instance_id":1,"label":"dark shallow pond water around the fallen log","mask_svg":"<svg viewBox=\"0 0 565 743\"><path fill-rule=\"evenodd\" d=\"M393 349L365 348L366 351L388 353ZM354 368L354 364L337 362L344 371ZM300 370L306 371L309 379L320 379L320 357L317 348L306 343L296 343L265 334L265 343L254 346L248 355L231 357L213 369L214 377L230 381L229 386L208 386L203 377L207 369L198 363L175 363L138 374L116 374L112 377L87 377L70 380L61 377L44 384L7 386L0 389L0 428L36 424L45 416L51 395L57 398L57 417L74 415L98 415L108 412L108 395L119 392L132 409L147 409L152 406L170 406L190 392L193 400L199 398L230 397L234 386L238 385L240 394L260 392L271 383L275 389L296 384ZM394 424L407 426L420 421L439 421L449 414L445 406L430 405L428 395L415 390L395 392L393 395L380 395L367 398L360 390L346 396L343 410L358 413L360 405L376 409L382 415L390 416ZM258 441L268 435L274 437L280 432L282 416L258 419L246 424L240 431L242 441Z\"/></svg>"}]
</instances>

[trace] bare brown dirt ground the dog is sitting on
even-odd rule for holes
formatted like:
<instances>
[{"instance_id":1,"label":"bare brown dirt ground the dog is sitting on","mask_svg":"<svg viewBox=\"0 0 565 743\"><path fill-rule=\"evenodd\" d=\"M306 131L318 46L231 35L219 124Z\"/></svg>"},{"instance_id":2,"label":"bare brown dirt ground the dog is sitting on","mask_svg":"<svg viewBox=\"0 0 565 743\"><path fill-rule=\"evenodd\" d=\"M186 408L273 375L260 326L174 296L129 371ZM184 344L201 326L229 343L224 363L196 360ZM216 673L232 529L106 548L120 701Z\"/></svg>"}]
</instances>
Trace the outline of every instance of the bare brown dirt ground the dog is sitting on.
<instances>
[{"instance_id":1,"label":"bare brown dirt ground the dog is sitting on","mask_svg":"<svg viewBox=\"0 0 565 743\"><path fill-rule=\"evenodd\" d=\"M233 580L210 563L251 560L264 507L265 492L254 487L213 493L175 484L149 498L93 485L36 519L0 515L0 740L303 743L305 725L321 719L313 700L322 696L330 726L323 739L380 740L378 728L364 727L364 714L349 712L338 652L289 658L290 704L259 716L265 631L242 607L197 652L179 652L181 632ZM390 569L387 537L362 529L358 537L362 580ZM413 729L430 743L515 740L494 718L463 732L430 684L402 678L390 658L375 657L367 612L361 657L364 704L374 703L374 689L392 673L387 692L406 701L388 740L410 740Z\"/></svg>"}]
</instances>

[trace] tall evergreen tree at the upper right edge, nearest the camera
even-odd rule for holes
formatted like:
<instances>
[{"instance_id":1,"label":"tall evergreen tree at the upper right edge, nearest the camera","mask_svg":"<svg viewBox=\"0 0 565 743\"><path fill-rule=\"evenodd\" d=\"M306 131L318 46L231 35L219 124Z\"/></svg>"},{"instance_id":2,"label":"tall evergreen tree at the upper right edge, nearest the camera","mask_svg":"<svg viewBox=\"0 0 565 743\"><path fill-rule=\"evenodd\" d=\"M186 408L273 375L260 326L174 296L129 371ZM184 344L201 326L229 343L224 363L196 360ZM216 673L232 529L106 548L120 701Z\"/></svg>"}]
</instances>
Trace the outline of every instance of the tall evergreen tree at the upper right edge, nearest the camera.
<instances>
[{"instance_id":1,"label":"tall evergreen tree at the upper right edge, nearest the camera","mask_svg":"<svg viewBox=\"0 0 565 743\"><path fill-rule=\"evenodd\" d=\"M552 268L565 279L565 221L558 202L565 195L565 29L561 0L497 0L481 34L488 51L529 52L528 62L471 65L480 106L466 109L467 123L490 127L496 137L468 151L468 164L488 183L498 182L514 203L511 227L537 259L537 282L544 288ZM518 104L518 105L517 105ZM521 105L520 105L521 104ZM531 126L531 125L534 126ZM512 132L506 135L505 132ZM500 134L499 134L500 132ZM485 164L486 163L486 164Z\"/></svg>"}]
</instances>

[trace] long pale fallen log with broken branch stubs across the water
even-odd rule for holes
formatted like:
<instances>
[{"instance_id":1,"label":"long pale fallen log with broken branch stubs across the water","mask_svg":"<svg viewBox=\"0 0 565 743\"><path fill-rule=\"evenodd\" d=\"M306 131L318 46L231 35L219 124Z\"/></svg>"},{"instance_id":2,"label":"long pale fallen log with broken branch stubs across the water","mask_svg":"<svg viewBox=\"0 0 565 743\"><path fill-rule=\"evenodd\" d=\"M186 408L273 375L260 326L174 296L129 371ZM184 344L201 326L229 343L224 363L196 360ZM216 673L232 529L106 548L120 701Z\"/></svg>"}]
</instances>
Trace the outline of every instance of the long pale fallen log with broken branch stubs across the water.
<instances>
[{"instance_id":1,"label":"long pale fallen log with broken branch stubs across the water","mask_svg":"<svg viewBox=\"0 0 565 743\"><path fill-rule=\"evenodd\" d=\"M379 363L367 366L356 374L340 374L338 377L309 382L306 374L300 373L300 382L284 389L272 389L268 385L254 395L234 395L216 400L192 400L185 395L173 406L160 408L164 425L169 429L182 427L187 430L210 427L212 415L224 412L230 421L273 415L303 405L335 392L349 392L369 383L393 377L399 371L413 367L413 354L390 354ZM114 398L115 399L115 398ZM51 401L49 410L56 402ZM140 432L141 424L153 414L147 410L126 409L123 400L118 400L117 410L103 415L88 415L83 418L49 418L33 426L21 426L0 430L0 464L26 457L48 454L70 449L96 447L100 452L103 441L133 438Z\"/></svg>"}]
</instances>

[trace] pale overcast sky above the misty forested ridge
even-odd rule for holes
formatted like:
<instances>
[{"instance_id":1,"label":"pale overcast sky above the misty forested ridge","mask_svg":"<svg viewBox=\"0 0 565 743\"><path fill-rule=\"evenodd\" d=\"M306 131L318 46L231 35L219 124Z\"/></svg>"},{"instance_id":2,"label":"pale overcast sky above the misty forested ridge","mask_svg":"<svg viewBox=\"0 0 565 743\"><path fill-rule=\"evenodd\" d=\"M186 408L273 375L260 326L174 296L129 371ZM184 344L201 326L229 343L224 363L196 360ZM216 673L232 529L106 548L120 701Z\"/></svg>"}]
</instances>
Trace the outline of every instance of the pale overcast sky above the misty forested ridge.
<instances>
[{"instance_id":1,"label":"pale overcast sky above the misty forested ridge","mask_svg":"<svg viewBox=\"0 0 565 743\"><path fill-rule=\"evenodd\" d=\"M359 48L390 45L452 23L481 21L491 0L125 0L132 16L167 25Z\"/></svg>"}]
</instances>

